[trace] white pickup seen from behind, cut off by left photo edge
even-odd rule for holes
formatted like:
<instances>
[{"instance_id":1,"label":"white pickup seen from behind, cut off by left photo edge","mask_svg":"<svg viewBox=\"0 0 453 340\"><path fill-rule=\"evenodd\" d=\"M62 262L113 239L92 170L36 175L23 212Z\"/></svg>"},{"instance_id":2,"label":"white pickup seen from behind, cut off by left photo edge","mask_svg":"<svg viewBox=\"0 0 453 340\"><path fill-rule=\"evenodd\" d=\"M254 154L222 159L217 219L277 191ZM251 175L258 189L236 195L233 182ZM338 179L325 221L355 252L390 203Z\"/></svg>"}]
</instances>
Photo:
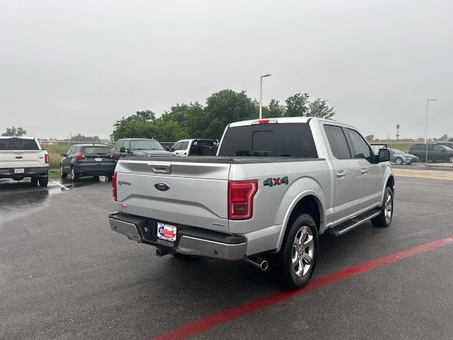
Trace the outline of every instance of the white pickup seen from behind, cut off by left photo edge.
<instances>
[{"instance_id":1,"label":"white pickup seen from behind, cut off by left photo edge","mask_svg":"<svg viewBox=\"0 0 453 340\"><path fill-rule=\"evenodd\" d=\"M31 178L33 186L49 182L49 154L33 137L0 137L0 179Z\"/></svg>"}]
</instances>

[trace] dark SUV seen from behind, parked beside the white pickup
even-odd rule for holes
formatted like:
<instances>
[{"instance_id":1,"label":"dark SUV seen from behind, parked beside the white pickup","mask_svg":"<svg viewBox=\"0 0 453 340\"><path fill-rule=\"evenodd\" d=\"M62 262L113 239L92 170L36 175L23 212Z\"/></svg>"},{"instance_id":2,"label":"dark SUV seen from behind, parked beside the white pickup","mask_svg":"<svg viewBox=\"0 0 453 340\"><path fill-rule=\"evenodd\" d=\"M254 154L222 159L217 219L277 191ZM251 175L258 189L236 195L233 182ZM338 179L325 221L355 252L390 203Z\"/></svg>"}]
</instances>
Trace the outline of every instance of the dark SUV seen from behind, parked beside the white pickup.
<instances>
[{"instance_id":1,"label":"dark SUV seen from behind, parked beside the white pickup","mask_svg":"<svg viewBox=\"0 0 453 340\"><path fill-rule=\"evenodd\" d=\"M107 145L76 144L61 156L59 174L62 179L70 174L72 181L81 176L98 175L107 176L110 180L115 172L115 159Z\"/></svg>"}]
</instances>

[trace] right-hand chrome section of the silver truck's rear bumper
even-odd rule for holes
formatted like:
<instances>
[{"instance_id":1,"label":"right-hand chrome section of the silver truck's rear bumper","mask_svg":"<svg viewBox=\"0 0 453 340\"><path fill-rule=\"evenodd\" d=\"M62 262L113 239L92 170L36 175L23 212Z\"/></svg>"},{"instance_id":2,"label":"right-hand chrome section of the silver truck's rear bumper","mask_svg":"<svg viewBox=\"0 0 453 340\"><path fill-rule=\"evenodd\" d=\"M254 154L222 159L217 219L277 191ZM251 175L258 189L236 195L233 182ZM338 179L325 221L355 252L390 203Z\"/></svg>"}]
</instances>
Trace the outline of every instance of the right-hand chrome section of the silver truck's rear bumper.
<instances>
[{"instance_id":1,"label":"right-hand chrome section of the silver truck's rear bumper","mask_svg":"<svg viewBox=\"0 0 453 340\"><path fill-rule=\"evenodd\" d=\"M224 260L240 260L246 256L247 244L225 244L207 239L183 235L179 241L177 253L207 256Z\"/></svg>"}]
</instances>

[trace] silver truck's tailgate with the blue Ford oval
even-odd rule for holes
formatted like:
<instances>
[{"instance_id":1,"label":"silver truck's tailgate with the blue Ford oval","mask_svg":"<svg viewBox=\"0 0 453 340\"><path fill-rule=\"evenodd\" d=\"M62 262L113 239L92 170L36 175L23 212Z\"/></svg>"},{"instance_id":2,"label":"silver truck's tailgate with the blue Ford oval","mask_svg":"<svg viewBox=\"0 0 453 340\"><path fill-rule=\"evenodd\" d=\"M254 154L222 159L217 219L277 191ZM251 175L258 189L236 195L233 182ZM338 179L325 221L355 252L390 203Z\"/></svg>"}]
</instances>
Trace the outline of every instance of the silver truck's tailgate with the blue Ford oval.
<instances>
[{"instance_id":1,"label":"silver truck's tailgate with the blue Ford oval","mask_svg":"<svg viewBox=\"0 0 453 340\"><path fill-rule=\"evenodd\" d=\"M230 162L175 158L168 157L168 162L161 161L163 157L122 158L115 169L118 209L170 224L228 232Z\"/></svg>"}]
</instances>

